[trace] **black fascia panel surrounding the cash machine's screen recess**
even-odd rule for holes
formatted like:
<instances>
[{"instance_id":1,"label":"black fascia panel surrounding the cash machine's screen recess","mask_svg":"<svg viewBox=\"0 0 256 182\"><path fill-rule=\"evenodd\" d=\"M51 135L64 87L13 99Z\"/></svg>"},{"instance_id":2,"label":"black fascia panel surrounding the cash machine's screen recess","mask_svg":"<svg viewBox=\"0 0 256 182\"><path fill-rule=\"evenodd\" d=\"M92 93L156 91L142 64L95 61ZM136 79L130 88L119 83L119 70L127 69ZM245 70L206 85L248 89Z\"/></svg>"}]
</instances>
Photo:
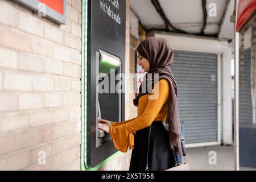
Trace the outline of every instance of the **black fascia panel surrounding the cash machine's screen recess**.
<instances>
[{"instance_id":1,"label":"black fascia panel surrounding the cash machine's screen recess","mask_svg":"<svg viewBox=\"0 0 256 182\"><path fill-rule=\"evenodd\" d=\"M108 2L108 1L106 1ZM121 60L121 73L125 73L125 35L126 35L126 1L119 0L119 13L121 24L111 19L100 9L100 0L88 1L88 97L87 97L87 133L86 133L86 162L88 165L95 167L109 156L113 155L117 150L113 142L108 140L97 147L97 82L98 77L96 70L98 69L97 52L104 50L105 52L119 57ZM122 84L122 90L125 85ZM102 117L104 118L104 117ZM108 118L104 118L108 119ZM125 120L125 93L121 93L121 121ZM118 121L116 121L118 122Z\"/></svg>"}]
</instances>

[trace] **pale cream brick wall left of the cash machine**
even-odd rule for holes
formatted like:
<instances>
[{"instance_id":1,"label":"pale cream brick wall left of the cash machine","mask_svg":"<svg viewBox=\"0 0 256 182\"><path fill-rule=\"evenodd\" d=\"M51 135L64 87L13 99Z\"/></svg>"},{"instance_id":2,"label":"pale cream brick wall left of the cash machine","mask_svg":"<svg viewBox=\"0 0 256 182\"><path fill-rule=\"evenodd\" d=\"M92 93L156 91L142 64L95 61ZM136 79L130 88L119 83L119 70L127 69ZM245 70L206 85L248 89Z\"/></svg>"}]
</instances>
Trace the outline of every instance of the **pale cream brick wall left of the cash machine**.
<instances>
[{"instance_id":1,"label":"pale cream brick wall left of the cash machine","mask_svg":"<svg viewBox=\"0 0 256 182\"><path fill-rule=\"evenodd\" d=\"M80 0L61 26L0 1L0 169L80 169L80 78Z\"/></svg>"}]
</instances>

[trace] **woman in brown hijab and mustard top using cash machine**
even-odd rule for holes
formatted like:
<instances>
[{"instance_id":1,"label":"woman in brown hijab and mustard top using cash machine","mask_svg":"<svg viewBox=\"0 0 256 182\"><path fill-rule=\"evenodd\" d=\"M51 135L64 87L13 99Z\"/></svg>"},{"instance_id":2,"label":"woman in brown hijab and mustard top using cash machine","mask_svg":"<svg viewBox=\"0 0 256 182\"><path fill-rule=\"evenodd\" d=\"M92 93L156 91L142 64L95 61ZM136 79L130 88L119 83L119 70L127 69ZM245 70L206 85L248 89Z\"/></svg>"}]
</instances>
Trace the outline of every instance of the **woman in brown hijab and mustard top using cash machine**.
<instances>
[{"instance_id":1,"label":"woman in brown hijab and mustard top using cash machine","mask_svg":"<svg viewBox=\"0 0 256 182\"><path fill-rule=\"evenodd\" d=\"M137 54L138 64L147 72L133 100L138 107L138 117L118 123L99 119L98 128L112 136L117 150L133 149L130 171L145 170L147 154L149 170L165 170L175 166L175 154L182 154L177 86L170 69L174 52L166 39L147 38L139 44ZM155 81L157 75L158 81ZM143 93L144 86L153 89ZM168 130L163 122L168 123Z\"/></svg>"}]
</instances>

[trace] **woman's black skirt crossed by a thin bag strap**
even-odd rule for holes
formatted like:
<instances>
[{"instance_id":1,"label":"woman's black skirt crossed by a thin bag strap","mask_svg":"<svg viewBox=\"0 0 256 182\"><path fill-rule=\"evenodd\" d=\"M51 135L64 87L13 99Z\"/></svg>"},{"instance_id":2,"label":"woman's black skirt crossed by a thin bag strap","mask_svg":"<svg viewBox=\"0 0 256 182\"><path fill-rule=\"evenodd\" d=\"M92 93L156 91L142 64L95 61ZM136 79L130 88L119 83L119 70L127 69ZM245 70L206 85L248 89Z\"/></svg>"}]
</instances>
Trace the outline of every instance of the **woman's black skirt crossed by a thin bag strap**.
<instances>
[{"instance_id":1,"label":"woman's black skirt crossed by a thin bag strap","mask_svg":"<svg viewBox=\"0 0 256 182\"><path fill-rule=\"evenodd\" d=\"M130 171L145 171L146 169L149 131L150 127L146 127L135 133ZM152 122L148 151L148 169L150 171L164 171L175 165L175 152L170 147L168 130L166 130L162 121Z\"/></svg>"}]
</instances>

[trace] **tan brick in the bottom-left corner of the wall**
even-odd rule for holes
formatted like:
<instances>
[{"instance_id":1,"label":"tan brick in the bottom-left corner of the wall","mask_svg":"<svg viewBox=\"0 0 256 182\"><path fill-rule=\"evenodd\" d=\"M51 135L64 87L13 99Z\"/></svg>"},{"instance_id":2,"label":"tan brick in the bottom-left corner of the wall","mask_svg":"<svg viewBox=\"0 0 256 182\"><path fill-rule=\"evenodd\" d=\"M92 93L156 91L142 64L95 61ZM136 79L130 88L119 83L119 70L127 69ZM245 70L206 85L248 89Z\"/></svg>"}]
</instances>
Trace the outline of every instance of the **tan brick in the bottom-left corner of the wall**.
<instances>
[{"instance_id":1,"label":"tan brick in the bottom-left corner of the wall","mask_svg":"<svg viewBox=\"0 0 256 182\"><path fill-rule=\"evenodd\" d=\"M20 152L13 154L7 158L0 159L0 170L13 171L23 169L28 166L30 158L30 152Z\"/></svg>"}]
</instances>

